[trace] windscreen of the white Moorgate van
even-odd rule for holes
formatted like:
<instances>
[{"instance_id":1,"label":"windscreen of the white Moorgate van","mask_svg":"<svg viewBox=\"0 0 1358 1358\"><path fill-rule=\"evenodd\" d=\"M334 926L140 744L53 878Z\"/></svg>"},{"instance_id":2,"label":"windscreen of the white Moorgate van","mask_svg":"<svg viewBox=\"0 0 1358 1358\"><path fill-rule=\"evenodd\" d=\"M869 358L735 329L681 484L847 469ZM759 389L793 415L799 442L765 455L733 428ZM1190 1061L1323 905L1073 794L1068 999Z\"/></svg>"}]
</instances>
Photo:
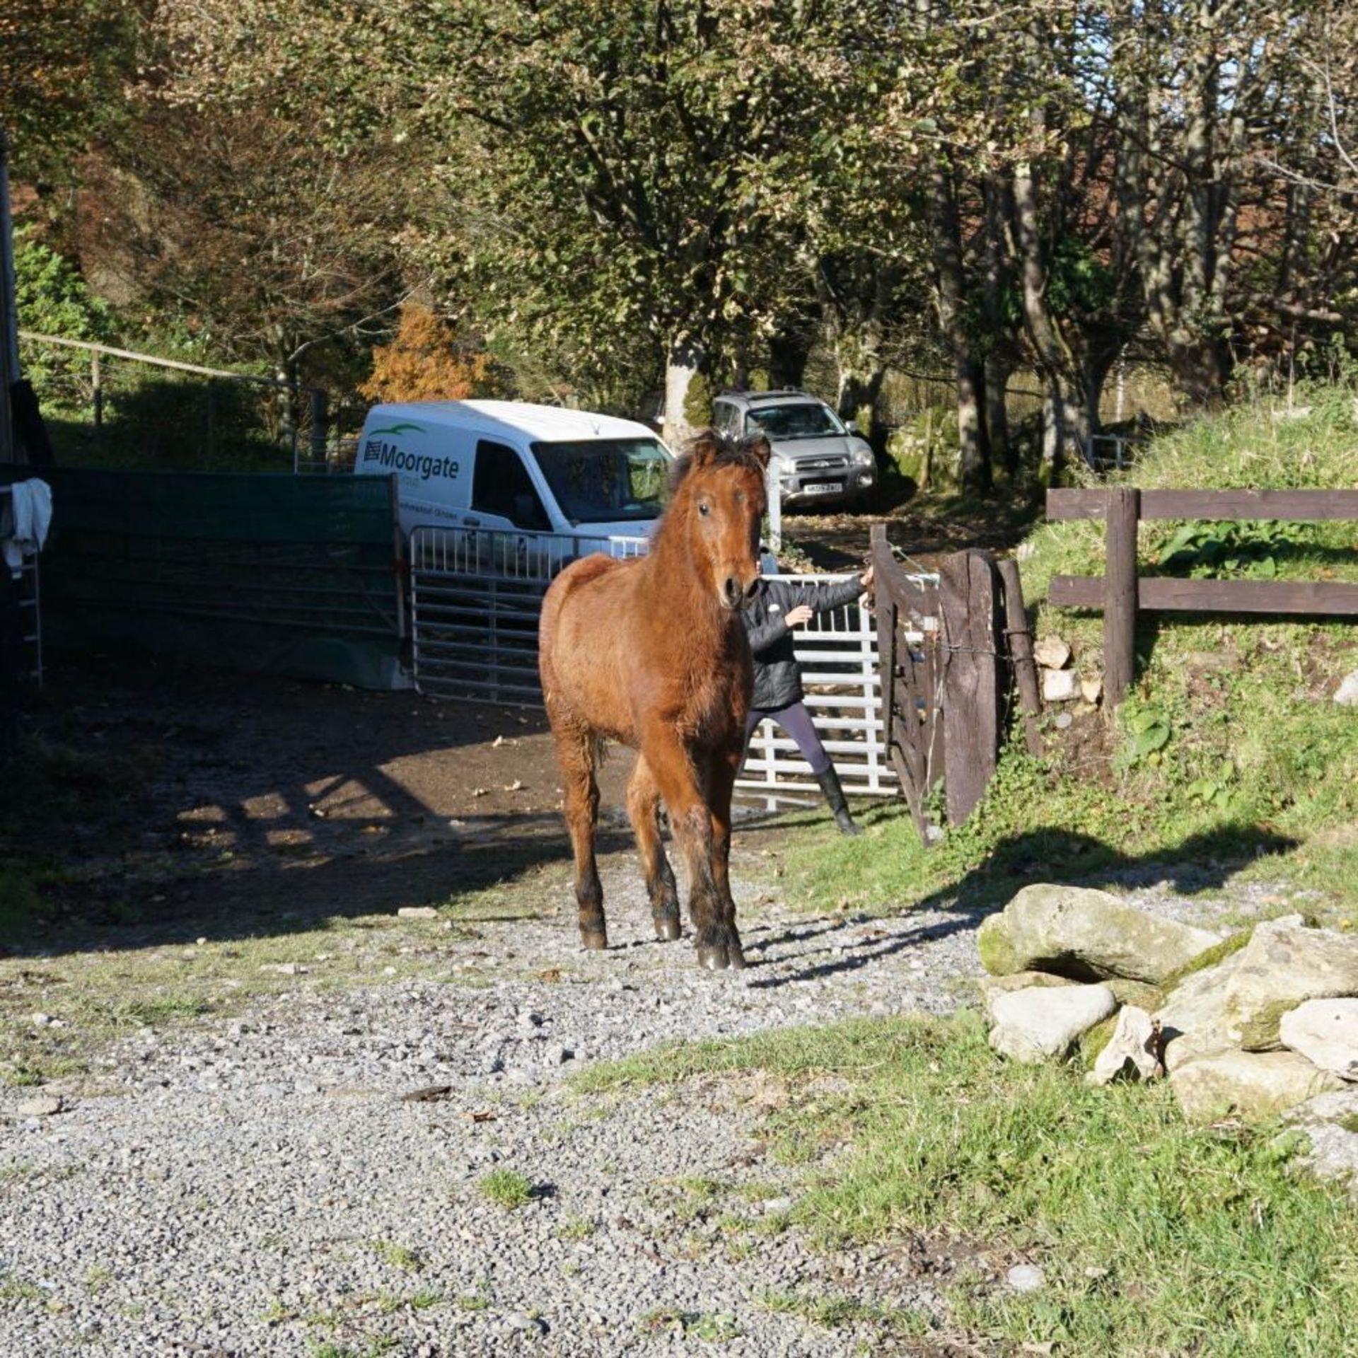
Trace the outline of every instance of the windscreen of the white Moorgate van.
<instances>
[{"instance_id":1,"label":"windscreen of the white Moorgate van","mask_svg":"<svg viewBox=\"0 0 1358 1358\"><path fill-rule=\"evenodd\" d=\"M532 452L572 523L656 519L664 508L669 455L655 439L535 443Z\"/></svg>"}]
</instances>

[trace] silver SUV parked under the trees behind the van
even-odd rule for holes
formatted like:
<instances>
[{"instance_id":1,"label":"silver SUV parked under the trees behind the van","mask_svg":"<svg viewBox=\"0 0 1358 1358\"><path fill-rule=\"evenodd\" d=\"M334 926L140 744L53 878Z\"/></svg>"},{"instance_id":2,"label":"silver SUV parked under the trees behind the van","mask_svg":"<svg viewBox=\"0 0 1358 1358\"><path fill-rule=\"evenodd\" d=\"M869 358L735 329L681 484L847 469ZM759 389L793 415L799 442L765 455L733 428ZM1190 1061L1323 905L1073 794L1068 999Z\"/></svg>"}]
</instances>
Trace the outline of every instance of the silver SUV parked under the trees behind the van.
<instances>
[{"instance_id":1,"label":"silver SUV parked under the trees behind the van","mask_svg":"<svg viewBox=\"0 0 1358 1358\"><path fill-rule=\"evenodd\" d=\"M805 391L722 391L712 422L741 437L762 432L773 447L785 505L843 505L877 483L872 448L823 401Z\"/></svg>"}]
</instances>

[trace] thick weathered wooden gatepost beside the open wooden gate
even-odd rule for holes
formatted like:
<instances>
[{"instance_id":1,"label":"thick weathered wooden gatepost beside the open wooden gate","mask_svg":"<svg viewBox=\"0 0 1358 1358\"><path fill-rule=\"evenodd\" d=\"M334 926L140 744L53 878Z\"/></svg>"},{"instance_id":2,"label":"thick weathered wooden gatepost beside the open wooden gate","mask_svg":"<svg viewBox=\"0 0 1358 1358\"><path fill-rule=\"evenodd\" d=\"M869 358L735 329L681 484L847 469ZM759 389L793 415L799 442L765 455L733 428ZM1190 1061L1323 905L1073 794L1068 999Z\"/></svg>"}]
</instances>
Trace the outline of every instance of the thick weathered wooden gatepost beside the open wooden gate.
<instances>
[{"instance_id":1,"label":"thick weathered wooden gatepost beside the open wooden gate","mask_svg":"<svg viewBox=\"0 0 1358 1358\"><path fill-rule=\"evenodd\" d=\"M940 568L942 623L944 792L960 826L985 796L999 762L999 600L983 551L959 551Z\"/></svg>"}]
</instances>

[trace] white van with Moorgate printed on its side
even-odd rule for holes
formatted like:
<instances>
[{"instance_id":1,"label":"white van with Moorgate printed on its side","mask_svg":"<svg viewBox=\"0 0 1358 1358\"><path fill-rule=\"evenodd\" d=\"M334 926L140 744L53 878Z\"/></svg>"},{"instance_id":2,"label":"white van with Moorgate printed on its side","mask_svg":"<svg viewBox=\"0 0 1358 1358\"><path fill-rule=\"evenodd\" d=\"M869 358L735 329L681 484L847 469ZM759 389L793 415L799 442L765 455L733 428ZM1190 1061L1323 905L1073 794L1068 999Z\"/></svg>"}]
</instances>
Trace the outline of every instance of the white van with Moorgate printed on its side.
<instances>
[{"instance_id":1,"label":"white van with Moorgate printed on its side","mask_svg":"<svg viewBox=\"0 0 1358 1358\"><path fill-rule=\"evenodd\" d=\"M596 550L660 517L672 454L644 424L523 401L373 406L356 475L399 478L401 527L553 532Z\"/></svg>"}]
</instances>

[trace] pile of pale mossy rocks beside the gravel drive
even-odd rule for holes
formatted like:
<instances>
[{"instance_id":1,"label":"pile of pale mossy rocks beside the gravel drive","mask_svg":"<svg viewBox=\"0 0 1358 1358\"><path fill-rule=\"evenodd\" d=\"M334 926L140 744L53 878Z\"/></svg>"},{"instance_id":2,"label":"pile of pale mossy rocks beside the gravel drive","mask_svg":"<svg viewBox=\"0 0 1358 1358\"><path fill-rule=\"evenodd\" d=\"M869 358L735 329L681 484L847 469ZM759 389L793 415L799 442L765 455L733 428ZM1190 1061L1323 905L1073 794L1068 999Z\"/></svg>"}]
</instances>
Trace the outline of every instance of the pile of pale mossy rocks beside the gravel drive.
<instances>
[{"instance_id":1,"label":"pile of pale mossy rocks beside the gravel drive","mask_svg":"<svg viewBox=\"0 0 1358 1358\"><path fill-rule=\"evenodd\" d=\"M1104 891L1035 885L979 945L1004 1055L1078 1048L1096 1084L1168 1074L1191 1122L1320 1111L1358 1169L1358 937L1301 915L1224 937Z\"/></svg>"}]
</instances>

